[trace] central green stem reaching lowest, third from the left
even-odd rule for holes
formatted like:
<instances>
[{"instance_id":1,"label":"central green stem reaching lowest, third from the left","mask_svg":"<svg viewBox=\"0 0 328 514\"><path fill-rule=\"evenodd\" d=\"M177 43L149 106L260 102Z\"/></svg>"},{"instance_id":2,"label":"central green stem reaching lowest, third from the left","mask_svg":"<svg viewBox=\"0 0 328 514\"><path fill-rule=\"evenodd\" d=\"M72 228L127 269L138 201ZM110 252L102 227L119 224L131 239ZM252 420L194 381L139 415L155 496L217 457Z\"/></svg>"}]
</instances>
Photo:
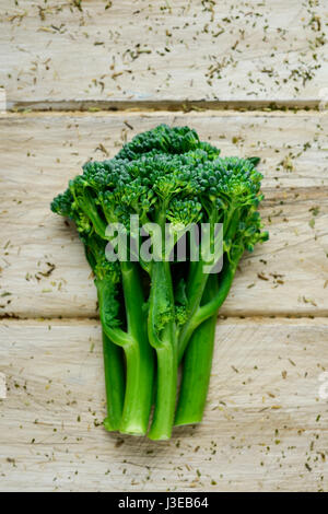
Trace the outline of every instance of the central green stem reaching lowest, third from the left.
<instances>
[{"instance_id":1,"label":"central green stem reaching lowest, third from the left","mask_svg":"<svg viewBox=\"0 0 328 514\"><path fill-rule=\"evenodd\" d=\"M154 261L151 274L149 340L157 355L157 388L152 440L171 437L177 390L177 341L169 262Z\"/></svg>"}]
</instances>

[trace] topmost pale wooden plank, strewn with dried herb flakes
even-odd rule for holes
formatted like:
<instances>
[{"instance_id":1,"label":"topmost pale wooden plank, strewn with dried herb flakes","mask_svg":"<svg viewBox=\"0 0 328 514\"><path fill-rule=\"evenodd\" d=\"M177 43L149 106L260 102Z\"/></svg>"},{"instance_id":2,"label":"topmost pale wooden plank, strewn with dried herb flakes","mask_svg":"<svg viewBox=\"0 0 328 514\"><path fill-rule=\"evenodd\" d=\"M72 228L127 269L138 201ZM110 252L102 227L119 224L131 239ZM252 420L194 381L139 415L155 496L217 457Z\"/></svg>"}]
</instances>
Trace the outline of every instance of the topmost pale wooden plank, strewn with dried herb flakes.
<instances>
[{"instance_id":1,"label":"topmost pale wooden plank, strewn with dried herb flakes","mask_svg":"<svg viewBox=\"0 0 328 514\"><path fill-rule=\"evenodd\" d=\"M106 9L107 8L107 9ZM327 100L324 0L0 1L9 107Z\"/></svg>"}]
</instances>

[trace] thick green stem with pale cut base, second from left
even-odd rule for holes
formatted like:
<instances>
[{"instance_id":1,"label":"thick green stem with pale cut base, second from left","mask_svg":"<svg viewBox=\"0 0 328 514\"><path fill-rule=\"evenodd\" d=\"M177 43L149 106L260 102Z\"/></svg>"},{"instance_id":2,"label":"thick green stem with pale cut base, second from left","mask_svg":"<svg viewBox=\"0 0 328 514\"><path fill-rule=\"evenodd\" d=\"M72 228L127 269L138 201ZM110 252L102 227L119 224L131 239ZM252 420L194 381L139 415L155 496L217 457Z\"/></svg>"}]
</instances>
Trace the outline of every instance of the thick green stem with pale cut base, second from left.
<instances>
[{"instance_id":1,"label":"thick green stem with pale cut base, second from left","mask_svg":"<svg viewBox=\"0 0 328 514\"><path fill-rule=\"evenodd\" d=\"M125 347L127 386L120 432L147 433L152 405L154 359L148 341L143 292L137 265L121 262L128 334L133 342Z\"/></svg>"}]
</instances>

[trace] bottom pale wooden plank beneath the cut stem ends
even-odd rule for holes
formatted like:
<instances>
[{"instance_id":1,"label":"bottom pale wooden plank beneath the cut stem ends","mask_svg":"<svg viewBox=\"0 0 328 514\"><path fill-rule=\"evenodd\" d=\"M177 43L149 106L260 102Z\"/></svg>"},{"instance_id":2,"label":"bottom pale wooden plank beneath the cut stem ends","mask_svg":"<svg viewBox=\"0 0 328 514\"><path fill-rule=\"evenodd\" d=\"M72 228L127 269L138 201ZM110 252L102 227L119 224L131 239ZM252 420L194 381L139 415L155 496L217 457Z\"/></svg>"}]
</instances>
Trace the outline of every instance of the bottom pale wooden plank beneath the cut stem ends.
<instances>
[{"instance_id":1,"label":"bottom pale wooden plank beneath the cut stem ends","mask_svg":"<svg viewBox=\"0 0 328 514\"><path fill-rule=\"evenodd\" d=\"M2 322L0 489L327 491L327 329L320 318L219 322L202 424L153 443L99 424L96 324Z\"/></svg>"}]
</instances>

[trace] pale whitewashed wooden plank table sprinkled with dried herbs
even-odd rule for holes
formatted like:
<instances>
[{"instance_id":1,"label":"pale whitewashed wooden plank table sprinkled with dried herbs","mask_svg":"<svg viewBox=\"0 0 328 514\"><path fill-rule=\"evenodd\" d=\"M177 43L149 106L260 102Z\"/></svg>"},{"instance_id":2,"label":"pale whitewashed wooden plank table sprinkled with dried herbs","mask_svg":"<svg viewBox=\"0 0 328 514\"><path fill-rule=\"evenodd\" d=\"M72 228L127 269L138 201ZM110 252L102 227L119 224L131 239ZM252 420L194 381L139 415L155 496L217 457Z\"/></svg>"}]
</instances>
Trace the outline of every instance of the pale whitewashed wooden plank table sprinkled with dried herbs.
<instances>
[{"instance_id":1,"label":"pale whitewashed wooden plank table sprinkled with dried herbs","mask_svg":"<svg viewBox=\"0 0 328 514\"><path fill-rule=\"evenodd\" d=\"M328 490L327 13L0 0L0 490ZM203 423L154 443L102 427L95 289L49 202L160 122L261 157L270 241L221 311Z\"/></svg>"}]
</instances>

